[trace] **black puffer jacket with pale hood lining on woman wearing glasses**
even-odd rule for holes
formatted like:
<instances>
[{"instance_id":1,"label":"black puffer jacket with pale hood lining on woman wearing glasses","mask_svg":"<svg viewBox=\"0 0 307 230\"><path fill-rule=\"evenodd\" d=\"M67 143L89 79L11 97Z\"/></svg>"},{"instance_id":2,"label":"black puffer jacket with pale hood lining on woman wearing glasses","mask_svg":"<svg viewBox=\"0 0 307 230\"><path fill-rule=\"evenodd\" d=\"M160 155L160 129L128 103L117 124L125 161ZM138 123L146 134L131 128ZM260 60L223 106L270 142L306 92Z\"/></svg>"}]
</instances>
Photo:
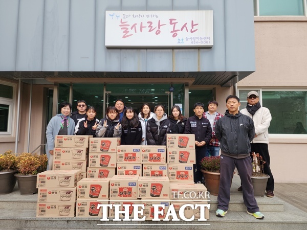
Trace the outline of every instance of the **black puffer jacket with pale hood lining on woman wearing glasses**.
<instances>
[{"instance_id":1,"label":"black puffer jacket with pale hood lining on woman wearing glasses","mask_svg":"<svg viewBox=\"0 0 307 230\"><path fill-rule=\"evenodd\" d=\"M158 120L157 115L153 115L147 121L146 141L147 145L166 145L166 133L171 133L171 124L166 113Z\"/></svg>"}]
</instances>

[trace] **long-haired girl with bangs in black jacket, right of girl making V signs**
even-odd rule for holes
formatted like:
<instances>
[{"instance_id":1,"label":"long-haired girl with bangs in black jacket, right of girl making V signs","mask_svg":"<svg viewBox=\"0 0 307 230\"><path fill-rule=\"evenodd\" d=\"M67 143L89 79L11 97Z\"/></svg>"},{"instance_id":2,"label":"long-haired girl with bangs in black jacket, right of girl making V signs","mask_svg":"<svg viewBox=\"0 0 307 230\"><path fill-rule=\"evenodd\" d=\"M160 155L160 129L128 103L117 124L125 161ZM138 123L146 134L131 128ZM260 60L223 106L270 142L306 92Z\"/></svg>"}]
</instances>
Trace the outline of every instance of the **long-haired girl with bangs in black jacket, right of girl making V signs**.
<instances>
[{"instance_id":1,"label":"long-haired girl with bangs in black jacket, right of girl making V signs","mask_svg":"<svg viewBox=\"0 0 307 230\"><path fill-rule=\"evenodd\" d=\"M137 113L132 107L127 107L121 121L121 145L140 145L142 141L142 125Z\"/></svg>"}]
</instances>

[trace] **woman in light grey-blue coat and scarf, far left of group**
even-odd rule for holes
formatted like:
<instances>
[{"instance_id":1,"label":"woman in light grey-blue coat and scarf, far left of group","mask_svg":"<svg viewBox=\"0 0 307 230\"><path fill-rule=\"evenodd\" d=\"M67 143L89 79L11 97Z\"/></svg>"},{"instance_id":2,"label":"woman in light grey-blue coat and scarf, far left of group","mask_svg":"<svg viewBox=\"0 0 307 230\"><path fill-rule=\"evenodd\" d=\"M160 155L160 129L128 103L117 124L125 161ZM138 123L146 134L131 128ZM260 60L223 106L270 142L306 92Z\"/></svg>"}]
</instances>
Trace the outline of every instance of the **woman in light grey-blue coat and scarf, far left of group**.
<instances>
[{"instance_id":1,"label":"woman in light grey-blue coat and scarf, far left of group","mask_svg":"<svg viewBox=\"0 0 307 230\"><path fill-rule=\"evenodd\" d=\"M47 126L46 137L46 154L48 157L47 170L52 170L54 140L56 135L74 135L75 122L71 119L70 113L72 105L68 102L62 102L59 105L61 113L51 118Z\"/></svg>"}]
</instances>

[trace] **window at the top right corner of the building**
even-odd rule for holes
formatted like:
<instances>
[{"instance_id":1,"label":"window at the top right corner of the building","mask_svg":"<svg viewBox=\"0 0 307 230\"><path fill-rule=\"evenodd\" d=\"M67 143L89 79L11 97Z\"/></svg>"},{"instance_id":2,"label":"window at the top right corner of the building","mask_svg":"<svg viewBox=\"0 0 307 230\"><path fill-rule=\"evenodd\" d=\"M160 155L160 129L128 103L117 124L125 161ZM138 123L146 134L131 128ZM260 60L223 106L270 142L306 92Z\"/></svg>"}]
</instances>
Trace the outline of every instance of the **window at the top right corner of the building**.
<instances>
[{"instance_id":1,"label":"window at the top right corner of the building","mask_svg":"<svg viewBox=\"0 0 307 230\"><path fill-rule=\"evenodd\" d=\"M254 0L255 16L304 16L306 0Z\"/></svg>"}]
</instances>

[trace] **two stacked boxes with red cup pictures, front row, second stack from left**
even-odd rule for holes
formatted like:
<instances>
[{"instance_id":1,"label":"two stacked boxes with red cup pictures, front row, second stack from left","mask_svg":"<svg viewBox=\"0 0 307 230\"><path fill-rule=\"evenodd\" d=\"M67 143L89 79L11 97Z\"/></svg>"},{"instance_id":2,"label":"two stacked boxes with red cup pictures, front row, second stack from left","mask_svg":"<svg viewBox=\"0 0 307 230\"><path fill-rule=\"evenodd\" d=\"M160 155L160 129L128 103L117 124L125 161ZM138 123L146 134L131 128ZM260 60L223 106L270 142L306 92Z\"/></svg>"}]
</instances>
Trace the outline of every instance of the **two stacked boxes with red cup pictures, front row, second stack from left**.
<instances>
[{"instance_id":1,"label":"two stacked boxes with red cup pictures, front row, second stack from left","mask_svg":"<svg viewBox=\"0 0 307 230\"><path fill-rule=\"evenodd\" d=\"M78 181L76 217L102 216L98 204L109 202L109 181L110 178L83 178Z\"/></svg>"}]
</instances>

